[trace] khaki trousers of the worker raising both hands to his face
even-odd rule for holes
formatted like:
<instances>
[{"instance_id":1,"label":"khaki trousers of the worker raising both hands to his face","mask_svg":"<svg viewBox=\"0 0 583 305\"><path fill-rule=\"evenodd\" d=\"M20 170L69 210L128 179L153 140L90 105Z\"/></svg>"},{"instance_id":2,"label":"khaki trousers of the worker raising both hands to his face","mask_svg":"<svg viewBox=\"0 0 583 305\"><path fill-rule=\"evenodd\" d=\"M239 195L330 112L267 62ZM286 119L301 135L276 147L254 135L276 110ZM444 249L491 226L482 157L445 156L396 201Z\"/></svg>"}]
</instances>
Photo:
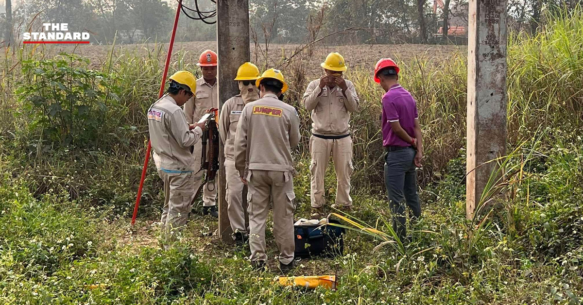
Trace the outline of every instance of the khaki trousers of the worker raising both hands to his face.
<instances>
[{"instance_id":1,"label":"khaki trousers of the worker raising both hands to his face","mask_svg":"<svg viewBox=\"0 0 583 305\"><path fill-rule=\"evenodd\" d=\"M331 153L336 179L338 180L336 184L336 205L352 206L352 197L350 197L350 175L354 170L352 166L352 137L322 139L312 135L310 137L310 153L312 156L312 163L310 164L312 207L321 208L325 204L324 177L326 176L326 167L328 167Z\"/></svg>"}]
</instances>

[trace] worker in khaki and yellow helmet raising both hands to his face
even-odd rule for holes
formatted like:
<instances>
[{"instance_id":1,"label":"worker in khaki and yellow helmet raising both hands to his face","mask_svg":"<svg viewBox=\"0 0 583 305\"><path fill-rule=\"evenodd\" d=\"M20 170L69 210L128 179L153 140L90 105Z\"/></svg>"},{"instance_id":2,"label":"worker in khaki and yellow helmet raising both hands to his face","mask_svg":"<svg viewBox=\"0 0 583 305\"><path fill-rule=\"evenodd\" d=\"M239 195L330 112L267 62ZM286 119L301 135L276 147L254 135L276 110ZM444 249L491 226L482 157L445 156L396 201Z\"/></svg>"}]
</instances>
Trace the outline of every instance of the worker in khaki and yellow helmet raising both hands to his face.
<instances>
[{"instance_id":1,"label":"worker in khaki and yellow helmet raising both hands to his face","mask_svg":"<svg viewBox=\"0 0 583 305\"><path fill-rule=\"evenodd\" d=\"M359 98L350 80L342 78L346 64L338 52L328 54L321 64L325 74L312 80L304 93L304 106L311 111L312 136L310 137L311 205L312 219L324 216L324 176L332 153L336 185L336 206L349 210L350 175L352 166L352 138L350 113L358 108Z\"/></svg>"}]
</instances>

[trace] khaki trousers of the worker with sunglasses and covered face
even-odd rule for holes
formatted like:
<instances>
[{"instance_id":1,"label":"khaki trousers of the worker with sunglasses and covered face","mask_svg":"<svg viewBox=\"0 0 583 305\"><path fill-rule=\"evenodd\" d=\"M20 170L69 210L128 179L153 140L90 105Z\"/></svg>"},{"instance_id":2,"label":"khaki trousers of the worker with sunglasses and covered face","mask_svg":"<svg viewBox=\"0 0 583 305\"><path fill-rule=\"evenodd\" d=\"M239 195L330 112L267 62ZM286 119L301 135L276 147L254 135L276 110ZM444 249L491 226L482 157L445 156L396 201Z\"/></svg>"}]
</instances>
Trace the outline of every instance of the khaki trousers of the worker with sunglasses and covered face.
<instances>
[{"instance_id":1,"label":"khaki trousers of the worker with sunglasses and covered face","mask_svg":"<svg viewBox=\"0 0 583 305\"><path fill-rule=\"evenodd\" d=\"M231 222L233 233L247 235L249 230L245 226L245 210L243 209L243 187L239 171L233 160L224 160L224 170L227 178L227 214Z\"/></svg>"}]
</instances>

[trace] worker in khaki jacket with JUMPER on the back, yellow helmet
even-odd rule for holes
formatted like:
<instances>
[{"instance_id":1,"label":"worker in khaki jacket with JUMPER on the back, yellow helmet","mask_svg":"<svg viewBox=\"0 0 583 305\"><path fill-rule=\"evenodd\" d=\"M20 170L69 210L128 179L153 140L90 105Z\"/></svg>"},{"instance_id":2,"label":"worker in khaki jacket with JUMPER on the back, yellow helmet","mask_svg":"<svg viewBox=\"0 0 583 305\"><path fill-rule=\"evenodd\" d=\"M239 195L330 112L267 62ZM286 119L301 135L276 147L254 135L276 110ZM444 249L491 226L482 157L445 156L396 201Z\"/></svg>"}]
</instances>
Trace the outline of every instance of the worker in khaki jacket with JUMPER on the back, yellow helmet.
<instances>
[{"instance_id":1,"label":"worker in khaki jacket with JUMPER on the back, yellow helmet","mask_svg":"<svg viewBox=\"0 0 583 305\"><path fill-rule=\"evenodd\" d=\"M235 166L249 191L251 264L265 269L265 224L269 201L273 201L273 235L279 248L279 268L293 269L293 190L291 147L300 141L300 118L296 109L279 97L287 84L279 70L269 69L257 79L261 99L243 108L235 138Z\"/></svg>"}]
</instances>

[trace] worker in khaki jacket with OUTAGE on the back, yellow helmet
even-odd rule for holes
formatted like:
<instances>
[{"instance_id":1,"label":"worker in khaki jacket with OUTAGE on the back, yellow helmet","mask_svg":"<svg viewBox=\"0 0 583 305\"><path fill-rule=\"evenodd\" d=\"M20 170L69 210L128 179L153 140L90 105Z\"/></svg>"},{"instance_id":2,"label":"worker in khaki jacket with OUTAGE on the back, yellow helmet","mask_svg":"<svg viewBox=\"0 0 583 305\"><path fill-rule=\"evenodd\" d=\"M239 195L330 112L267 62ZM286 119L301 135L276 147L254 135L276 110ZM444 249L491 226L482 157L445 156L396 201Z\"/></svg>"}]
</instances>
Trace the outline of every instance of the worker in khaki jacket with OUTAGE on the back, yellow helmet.
<instances>
[{"instance_id":1,"label":"worker in khaki jacket with OUTAGE on the back, yellow helmet","mask_svg":"<svg viewBox=\"0 0 583 305\"><path fill-rule=\"evenodd\" d=\"M186 224L191 209L194 172L198 170L191 149L199 142L205 125L188 125L180 106L192 97L195 88L194 75L178 71L170 76L168 94L153 103L147 112L154 162L164 181L161 218L164 248L174 239L175 230Z\"/></svg>"}]
</instances>

